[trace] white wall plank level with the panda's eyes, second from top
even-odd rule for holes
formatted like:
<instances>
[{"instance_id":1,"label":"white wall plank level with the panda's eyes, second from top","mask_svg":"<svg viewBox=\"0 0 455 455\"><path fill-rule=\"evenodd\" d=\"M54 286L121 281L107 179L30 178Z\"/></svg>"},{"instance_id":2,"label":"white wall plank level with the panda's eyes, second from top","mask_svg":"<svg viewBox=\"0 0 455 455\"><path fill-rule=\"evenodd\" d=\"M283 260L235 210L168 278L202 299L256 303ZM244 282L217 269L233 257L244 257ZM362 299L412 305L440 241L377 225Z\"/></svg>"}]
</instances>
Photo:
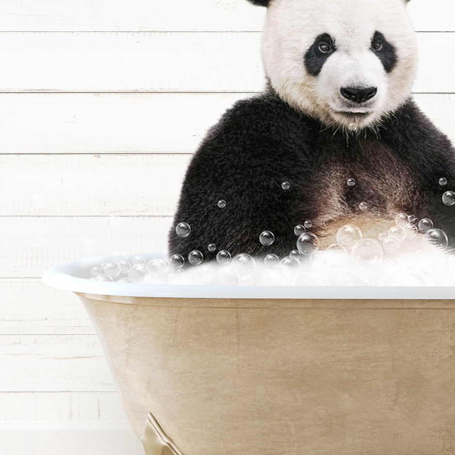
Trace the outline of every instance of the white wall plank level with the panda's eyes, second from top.
<instances>
[{"instance_id":1,"label":"white wall plank level with the panda's eyes, second from top","mask_svg":"<svg viewBox=\"0 0 455 455\"><path fill-rule=\"evenodd\" d=\"M259 32L0 34L1 92L258 92ZM455 33L418 33L418 93L455 92ZM30 69L33 69L32 71Z\"/></svg>"}]
</instances>

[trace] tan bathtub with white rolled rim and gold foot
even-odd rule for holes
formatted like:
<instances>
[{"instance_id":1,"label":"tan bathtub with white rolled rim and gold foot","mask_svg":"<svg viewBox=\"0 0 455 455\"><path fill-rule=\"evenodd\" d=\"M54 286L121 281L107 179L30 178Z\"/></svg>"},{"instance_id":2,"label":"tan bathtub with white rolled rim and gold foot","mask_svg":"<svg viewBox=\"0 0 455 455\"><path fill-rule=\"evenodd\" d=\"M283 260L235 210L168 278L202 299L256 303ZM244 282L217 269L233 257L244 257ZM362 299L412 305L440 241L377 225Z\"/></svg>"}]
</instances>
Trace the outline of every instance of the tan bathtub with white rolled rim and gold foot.
<instances>
[{"instance_id":1,"label":"tan bathtub with white rolled rim and gold foot","mask_svg":"<svg viewBox=\"0 0 455 455\"><path fill-rule=\"evenodd\" d=\"M88 280L108 259L43 280L82 300L145 454L455 453L454 287Z\"/></svg>"}]
</instances>

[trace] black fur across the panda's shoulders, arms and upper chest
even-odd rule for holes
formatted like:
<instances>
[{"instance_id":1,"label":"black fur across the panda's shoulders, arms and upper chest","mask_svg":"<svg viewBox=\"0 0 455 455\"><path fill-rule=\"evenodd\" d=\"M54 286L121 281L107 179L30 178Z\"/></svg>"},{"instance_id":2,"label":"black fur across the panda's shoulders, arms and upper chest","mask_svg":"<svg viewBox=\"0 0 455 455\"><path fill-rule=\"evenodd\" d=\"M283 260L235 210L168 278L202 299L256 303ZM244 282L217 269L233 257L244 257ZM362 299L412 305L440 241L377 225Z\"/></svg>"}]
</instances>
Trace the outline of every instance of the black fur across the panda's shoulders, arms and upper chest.
<instances>
[{"instance_id":1,"label":"black fur across the panda's shoulders, arms and upper chest","mask_svg":"<svg viewBox=\"0 0 455 455\"><path fill-rule=\"evenodd\" d=\"M287 255L296 248L294 227L324 213L320 189L331 194L332 185L331 197L340 198L350 213L359 214L364 200L375 215L385 210L389 196L384 187L357 182L352 188L344 185L338 194L335 178L321 183L321 173L333 163L354 171L343 178L355 177L363 166L369 180L385 183L385 188L391 175L402 172L410 202L395 201L397 212L430 218L453 241L455 206L444 205L441 196L455 189L455 151L412 100L384 120L380 140L362 131L346 141L343 133L334 134L269 89L237 102L204 139L188 167L174 219L174 226L187 222L191 234L181 238L173 227L169 251L187 257L199 250L206 259L223 249L232 255ZM446 187L439 186L440 177L447 178ZM290 183L287 190L282 189L284 181ZM393 190L394 183L390 186ZM217 205L220 199L226 201L224 208ZM275 235L271 246L259 242L264 230ZM207 250L209 243L216 245L215 252Z\"/></svg>"}]
</instances>

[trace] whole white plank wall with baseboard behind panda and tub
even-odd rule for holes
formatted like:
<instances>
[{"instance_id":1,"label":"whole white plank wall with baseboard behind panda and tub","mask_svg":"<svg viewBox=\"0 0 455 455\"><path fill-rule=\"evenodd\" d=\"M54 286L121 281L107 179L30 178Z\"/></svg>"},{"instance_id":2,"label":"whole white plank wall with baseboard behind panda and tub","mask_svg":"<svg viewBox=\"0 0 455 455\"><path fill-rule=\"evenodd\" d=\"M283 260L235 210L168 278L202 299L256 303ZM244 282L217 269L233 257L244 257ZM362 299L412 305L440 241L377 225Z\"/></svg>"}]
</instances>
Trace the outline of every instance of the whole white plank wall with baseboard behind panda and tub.
<instances>
[{"instance_id":1,"label":"whole white plank wall with baseboard behind panda and tub","mask_svg":"<svg viewBox=\"0 0 455 455\"><path fill-rule=\"evenodd\" d=\"M454 141L455 6L408 8L415 98ZM246 0L1 0L1 454L142 452L81 304L40 277L165 250L191 154L263 88L263 16Z\"/></svg>"}]
</instances>

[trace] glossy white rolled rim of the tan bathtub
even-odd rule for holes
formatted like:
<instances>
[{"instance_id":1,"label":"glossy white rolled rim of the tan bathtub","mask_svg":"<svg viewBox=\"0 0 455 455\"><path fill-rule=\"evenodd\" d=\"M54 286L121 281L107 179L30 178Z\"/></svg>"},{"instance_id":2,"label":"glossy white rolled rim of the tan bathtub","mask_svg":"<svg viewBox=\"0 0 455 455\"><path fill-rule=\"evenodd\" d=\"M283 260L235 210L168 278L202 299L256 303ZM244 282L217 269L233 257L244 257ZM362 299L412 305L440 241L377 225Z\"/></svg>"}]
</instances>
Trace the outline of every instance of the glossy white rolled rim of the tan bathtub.
<instances>
[{"instance_id":1,"label":"glossy white rolled rim of the tan bathtub","mask_svg":"<svg viewBox=\"0 0 455 455\"><path fill-rule=\"evenodd\" d=\"M147 261L163 253L140 253ZM87 270L111 256L78 259L50 267L42 281L77 293L166 298L289 298L289 299L454 299L455 286L239 286L99 282L83 278ZM85 272L85 273L83 273Z\"/></svg>"}]
</instances>

